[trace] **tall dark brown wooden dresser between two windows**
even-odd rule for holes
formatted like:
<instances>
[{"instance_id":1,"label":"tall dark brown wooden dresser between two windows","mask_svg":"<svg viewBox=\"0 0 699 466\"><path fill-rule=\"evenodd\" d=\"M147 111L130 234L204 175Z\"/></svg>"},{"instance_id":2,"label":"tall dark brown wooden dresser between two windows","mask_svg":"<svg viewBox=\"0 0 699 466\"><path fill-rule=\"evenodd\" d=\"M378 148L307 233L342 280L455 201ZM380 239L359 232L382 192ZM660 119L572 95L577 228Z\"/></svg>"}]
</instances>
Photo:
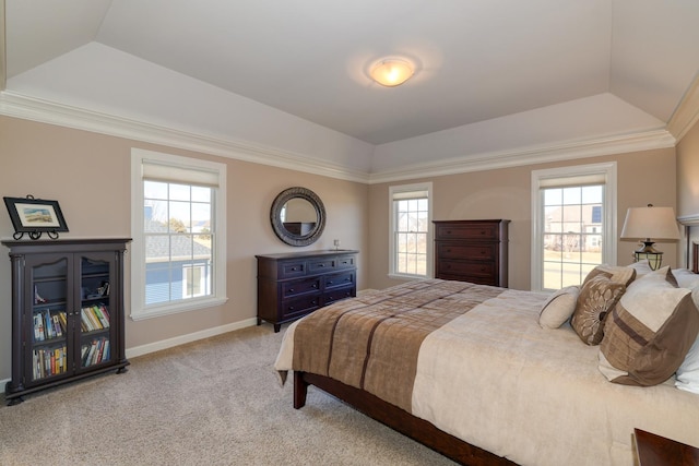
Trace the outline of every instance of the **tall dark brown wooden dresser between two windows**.
<instances>
[{"instance_id":1,"label":"tall dark brown wooden dresser between two windows","mask_svg":"<svg viewBox=\"0 0 699 466\"><path fill-rule=\"evenodd\" d=\"M507 288L510 220L435 220L435 278Z\"/></svg>"}]
</instances>

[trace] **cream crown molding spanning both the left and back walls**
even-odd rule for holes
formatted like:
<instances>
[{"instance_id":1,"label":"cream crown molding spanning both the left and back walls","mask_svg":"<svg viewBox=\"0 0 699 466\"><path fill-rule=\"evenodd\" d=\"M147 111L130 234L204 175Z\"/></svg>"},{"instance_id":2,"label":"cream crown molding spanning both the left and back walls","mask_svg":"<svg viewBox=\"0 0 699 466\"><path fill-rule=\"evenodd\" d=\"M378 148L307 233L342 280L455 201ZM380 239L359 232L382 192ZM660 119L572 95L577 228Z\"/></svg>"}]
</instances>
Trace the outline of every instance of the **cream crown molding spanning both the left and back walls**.
<instances>
[{"instance_id":1,"label":"cream crown molding spanning both the left and back walls","mask_svg":"<svg viewBox=\"0 0 699 466\"><path fill-rule=\"evenodd\" d=\"M0 115L367 184L666 148L677 141L666 130L653 130L472 154L369 174L249 142L169 129L8 91L0 92Z\"/></svg>"}]
</instances>

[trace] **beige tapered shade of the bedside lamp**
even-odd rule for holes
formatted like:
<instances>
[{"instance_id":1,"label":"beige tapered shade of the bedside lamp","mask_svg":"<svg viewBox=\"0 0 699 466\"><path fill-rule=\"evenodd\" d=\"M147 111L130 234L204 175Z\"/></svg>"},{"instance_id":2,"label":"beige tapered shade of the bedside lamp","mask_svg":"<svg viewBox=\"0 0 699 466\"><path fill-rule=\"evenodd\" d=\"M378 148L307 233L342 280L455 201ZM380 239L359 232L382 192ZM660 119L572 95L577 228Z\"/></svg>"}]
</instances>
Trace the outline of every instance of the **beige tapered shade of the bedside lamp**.
<instances>
[{"instance_id":1,"label":"beige tapered shade of the bedside lamp","mask_svg":"<svg viewBox=\"0 0 699 466\"><path fill-rule=\"evenodd\" d=\"M679 229L673 207L631 207L626 213L621 239L679 239Z\"/></svg>"}]
</instances>

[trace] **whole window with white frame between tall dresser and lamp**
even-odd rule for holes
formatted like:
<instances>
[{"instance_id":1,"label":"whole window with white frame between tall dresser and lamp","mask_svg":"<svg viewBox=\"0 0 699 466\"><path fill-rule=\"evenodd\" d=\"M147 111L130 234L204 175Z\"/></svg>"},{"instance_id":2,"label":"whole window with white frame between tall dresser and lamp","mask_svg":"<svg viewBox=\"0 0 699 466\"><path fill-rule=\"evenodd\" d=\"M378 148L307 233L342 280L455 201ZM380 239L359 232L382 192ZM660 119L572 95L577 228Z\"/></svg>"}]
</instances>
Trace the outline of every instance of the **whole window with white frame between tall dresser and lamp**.
<instances>
[{"instance_id":1,"label":"whole window with white frame between tall dresser and lamp","mask_svg":"<svg viewBox=\"0 0 699 466\"><path fill-rule=\"evenodd\" d=\"M532 289L580 285L616 263L616 164L532 171Z\"/></svg>"}]
</instances>

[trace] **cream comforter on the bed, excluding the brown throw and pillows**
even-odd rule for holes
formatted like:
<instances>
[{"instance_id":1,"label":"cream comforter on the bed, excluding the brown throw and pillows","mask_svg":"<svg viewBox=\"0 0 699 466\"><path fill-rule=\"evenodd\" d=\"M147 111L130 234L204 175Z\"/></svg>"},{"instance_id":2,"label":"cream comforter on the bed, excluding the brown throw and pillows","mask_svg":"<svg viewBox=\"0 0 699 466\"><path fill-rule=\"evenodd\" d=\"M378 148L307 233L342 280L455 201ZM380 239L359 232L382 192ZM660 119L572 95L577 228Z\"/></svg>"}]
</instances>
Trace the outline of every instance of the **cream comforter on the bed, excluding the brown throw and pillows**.
<instances>
[{"instance_id":1,"label":"cream comforter on the bed, excluding the brown throw and pillows","mask_svg":"<svg viewBox=\"0 0 699 466\"><path fill-rule=\"evenodd\" d=\"M599 347L543 330L545 296L507 290L431 333L419 350L413 415L522 465L633 464L633 428L699 446L699 395L674 381L608 382ZM292 370L292 325L275 369Z\"/></svg>"}]
</instances>

